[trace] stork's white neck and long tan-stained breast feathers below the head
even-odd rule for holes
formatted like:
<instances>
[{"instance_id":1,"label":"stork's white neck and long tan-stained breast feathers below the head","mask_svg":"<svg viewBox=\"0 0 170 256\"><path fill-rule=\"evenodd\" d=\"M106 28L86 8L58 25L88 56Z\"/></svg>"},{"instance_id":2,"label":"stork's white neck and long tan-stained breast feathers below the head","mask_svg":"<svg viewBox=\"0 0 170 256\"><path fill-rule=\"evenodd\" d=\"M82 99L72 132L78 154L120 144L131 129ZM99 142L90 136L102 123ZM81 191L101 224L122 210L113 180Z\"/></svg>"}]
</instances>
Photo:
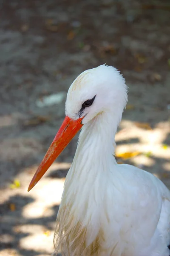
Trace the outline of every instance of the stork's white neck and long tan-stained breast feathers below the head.
<instances>
[{"instance_id":1,"label":"stork's white neck and long tan-stained breast feathers below the head","mask_svg":"<svg viewBox=\"0 0 170 256\"><path fill-rule=\"evenodd\" d=\"M57 215L54 244L63 256L105 255L98 215L116 165L117 125L111 113L101 113L82 128Z\"/></svg>"}]
</instances>

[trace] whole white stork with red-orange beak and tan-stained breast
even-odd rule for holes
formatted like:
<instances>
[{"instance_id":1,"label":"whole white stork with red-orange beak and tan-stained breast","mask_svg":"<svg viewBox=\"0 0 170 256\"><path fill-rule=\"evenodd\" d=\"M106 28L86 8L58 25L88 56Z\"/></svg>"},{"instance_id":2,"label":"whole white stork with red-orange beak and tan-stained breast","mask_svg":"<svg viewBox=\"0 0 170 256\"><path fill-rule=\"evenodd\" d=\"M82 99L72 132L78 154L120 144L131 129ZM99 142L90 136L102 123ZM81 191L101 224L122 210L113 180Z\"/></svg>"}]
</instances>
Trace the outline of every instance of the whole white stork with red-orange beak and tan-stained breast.
<instances>
[{"instance_id":1,"label":"whole white stork with red-orange beak and tan-stained breast","mask_svg":"<svg viewBox=\"0 0 170 256\"><path fill-rule=\"evenodd\" d=\"M126 102L124 79L105 65L82 73L68 91L69 124L83 126L57 215L54 240L62 256L170 256L170 191L150 173L114 158ZM46 164L48 169L64 126L36 175Z\"/></svg>"}]
</instances>

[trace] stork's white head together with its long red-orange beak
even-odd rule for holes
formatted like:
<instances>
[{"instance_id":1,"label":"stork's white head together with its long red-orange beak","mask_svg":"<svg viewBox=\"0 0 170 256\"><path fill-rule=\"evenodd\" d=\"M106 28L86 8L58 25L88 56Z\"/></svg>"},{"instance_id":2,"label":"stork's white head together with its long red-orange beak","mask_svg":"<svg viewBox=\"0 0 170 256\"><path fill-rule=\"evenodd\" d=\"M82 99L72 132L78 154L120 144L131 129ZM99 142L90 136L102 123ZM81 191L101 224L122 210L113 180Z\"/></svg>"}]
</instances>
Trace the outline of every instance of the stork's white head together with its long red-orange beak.
<instances>
[{"instance_id":1,"label":"stork's white head together with its long red-orange beak","mask_svg":"<svg viewBox=\"0 0 170 256\"><path fill-rule=\"evenodd\" d=\"M32 178L28 191L45 174L82 125L102 112L122 115L126 102L125 79L116 68L102 65L81 73L68 90L65 119Z\"/></svg>"}]
</instances>

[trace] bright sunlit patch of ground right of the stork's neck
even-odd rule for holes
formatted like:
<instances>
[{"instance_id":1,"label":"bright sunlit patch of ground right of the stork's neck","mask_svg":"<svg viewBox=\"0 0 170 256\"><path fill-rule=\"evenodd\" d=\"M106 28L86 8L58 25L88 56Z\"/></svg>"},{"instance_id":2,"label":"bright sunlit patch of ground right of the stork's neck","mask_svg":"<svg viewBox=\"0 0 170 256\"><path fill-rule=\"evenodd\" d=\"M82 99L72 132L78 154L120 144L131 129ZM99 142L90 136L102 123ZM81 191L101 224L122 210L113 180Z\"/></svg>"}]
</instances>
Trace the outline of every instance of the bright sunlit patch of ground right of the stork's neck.
<instances>
[{"instance_id":1,"label":"bright sunlit patch of ground right of the stork's neck","mask_svg":"<svg viewBox=\"0 0 170 256\"><path fill-rule=\"evenodd\" d=\"M156 164L156 159L161 158L165 161L166 171L170 171L170 146L164 144L170 131L169 122L161 122L155 128L146 130L127 120L122 120L120 126L122 129L116 134L116 143L120 142L116 147L116 155L127 152L139 153L135 157L127 157L128 160L139 168L155 165L152 172L159 174L159 177L161 170Z\"/></svg>"}]
</instances>

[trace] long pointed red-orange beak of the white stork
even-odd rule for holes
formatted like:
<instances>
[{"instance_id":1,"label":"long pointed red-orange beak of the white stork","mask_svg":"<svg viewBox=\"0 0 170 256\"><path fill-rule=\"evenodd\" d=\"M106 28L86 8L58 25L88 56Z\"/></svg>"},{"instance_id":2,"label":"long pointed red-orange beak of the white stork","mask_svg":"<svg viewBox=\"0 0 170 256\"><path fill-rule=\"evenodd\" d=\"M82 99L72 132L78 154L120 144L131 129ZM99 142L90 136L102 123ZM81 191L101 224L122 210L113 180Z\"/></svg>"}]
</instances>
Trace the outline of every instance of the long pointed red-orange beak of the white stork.
<instances>
[{"instance_id":1,"label":"long pointed red-orange beak of the white stork","mask_svg":"<svg viewBox=\"0 0 170 256\"><path fill-rule=\"evenodd\" d=\"M53 142L48 148L45 157L43 158L40 166L38 167L34 177L32 178L28 191L30 191L40 180L40 178L45 174L54 160L59 156L59 154L65 149L68 143L73 139L73 137L77 134L77 132L82 127L83 118L79 118L77 120L73 120L68 116L65 116L65 119L59 128Z\"/></svg>"}]
</instances>

